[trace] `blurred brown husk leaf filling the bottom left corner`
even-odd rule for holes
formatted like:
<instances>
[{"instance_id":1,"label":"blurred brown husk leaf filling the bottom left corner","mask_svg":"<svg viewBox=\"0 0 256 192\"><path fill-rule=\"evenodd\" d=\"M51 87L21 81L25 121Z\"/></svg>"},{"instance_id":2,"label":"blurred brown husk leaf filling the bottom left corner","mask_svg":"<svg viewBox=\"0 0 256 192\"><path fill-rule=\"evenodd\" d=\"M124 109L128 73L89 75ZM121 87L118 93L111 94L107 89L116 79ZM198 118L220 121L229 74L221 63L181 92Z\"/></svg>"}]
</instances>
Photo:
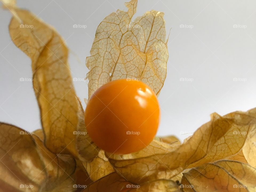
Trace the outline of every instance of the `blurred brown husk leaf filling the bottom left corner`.
<instances>
[{"instance_id":1,"label":"blurred brown husk leaf filling the bottom left corner","mask_svg":"<svg viewBox=\"0 0 256 192\"><path fill-rule=\"evenodd\" d=\"M75 191L75 160L55 155L36 136L0 123L0 191ZM33 187L23 187L23 186Z\"/></svg>"}]
</instances>

